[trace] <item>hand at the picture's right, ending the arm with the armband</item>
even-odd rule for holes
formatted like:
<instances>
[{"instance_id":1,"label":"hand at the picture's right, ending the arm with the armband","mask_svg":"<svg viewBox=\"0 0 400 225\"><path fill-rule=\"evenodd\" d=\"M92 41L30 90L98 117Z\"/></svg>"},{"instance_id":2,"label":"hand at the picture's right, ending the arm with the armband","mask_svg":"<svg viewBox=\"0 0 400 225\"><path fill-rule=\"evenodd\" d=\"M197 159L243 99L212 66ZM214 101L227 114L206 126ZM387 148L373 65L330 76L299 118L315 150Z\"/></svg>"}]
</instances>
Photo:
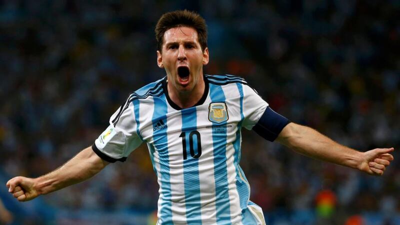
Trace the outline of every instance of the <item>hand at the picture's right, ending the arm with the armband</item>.
<instances>
[{"instance_id":1,"label":"hand at the picture's right, ending the arm with the armband","mask_svg":"<svg viewBox=\"0 0 400 225\"><path fill-rule=\"evenodd\" d=\"M370 175L382 175L386 166L393 160L393 155L389 152L394 148L375 148L369 151L361 152L361 163L358 169Z\"/></svg>"}]
</instances>

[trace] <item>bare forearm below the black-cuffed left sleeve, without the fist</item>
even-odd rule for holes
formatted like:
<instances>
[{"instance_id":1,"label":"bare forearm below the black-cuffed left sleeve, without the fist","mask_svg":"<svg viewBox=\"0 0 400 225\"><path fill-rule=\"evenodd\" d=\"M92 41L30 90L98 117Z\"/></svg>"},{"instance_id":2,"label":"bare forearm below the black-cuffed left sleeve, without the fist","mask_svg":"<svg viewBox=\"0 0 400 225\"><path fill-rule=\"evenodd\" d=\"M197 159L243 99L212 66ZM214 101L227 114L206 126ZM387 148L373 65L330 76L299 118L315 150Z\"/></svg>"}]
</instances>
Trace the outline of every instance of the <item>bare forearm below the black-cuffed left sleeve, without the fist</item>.
<instances>
[{"instance_id":1,"label":"bare forearm below the black-cuffed left sleeve, without the fist","mask_svg":"<svg viewBox=\"0 0 400 225\"><path fill-rule=\"evenodd\" d=\"M87 147L57 169L35 178L34 186L39 194L46 194L86 180L107 164Z\"/></svg>"}]
</instances>

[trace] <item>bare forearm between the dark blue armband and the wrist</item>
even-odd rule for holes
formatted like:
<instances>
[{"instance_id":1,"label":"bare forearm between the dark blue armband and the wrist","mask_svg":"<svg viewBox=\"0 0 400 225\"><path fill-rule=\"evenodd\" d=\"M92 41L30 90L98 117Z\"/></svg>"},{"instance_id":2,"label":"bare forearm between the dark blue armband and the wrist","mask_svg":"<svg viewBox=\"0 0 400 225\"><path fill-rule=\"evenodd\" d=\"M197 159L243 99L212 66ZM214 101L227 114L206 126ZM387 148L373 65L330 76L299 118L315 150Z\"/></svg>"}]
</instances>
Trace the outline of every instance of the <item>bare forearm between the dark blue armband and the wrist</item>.
<instances>
[{"instance_id":1,"label":"bare forearm between the dark blue armband and the wrist","mask_svg":"<svg viewBox=\"0 0 400 225\"><path fill-rule=\"evenodd\" d=\"M294 151L319 160L358 168L361 152L343 146L307 126L289 123L277 140Z\"/></svg>"}]
</instances>

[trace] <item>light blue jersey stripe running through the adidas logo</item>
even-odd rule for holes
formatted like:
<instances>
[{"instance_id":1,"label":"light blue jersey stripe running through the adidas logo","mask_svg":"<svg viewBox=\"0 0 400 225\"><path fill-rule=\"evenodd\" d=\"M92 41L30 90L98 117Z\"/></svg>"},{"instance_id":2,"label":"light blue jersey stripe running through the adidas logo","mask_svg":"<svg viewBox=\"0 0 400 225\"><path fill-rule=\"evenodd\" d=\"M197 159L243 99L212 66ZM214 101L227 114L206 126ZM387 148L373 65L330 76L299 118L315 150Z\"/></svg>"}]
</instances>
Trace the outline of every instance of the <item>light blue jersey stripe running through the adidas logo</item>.
<instances>
[{"instance_id":1,"label":"light blue jersey stripe running through the adidas logo","mask_svg":"<svg viewBox=\"0 0 400 225\"><path fill-rule=\"evenodd\" d=\"M167 104L165 95L154 97L154 112L152 117L153 128L159 120L164 120L166 124ZM171 211L171 184L169 174L169 156L168 156L168 139L166 130L154 129L153 131L153 144L158 152L159 157L159 176L161 181L161 210L160 219L162 224L172 224L172 211Z\"/></svg>"}]
</instances>

